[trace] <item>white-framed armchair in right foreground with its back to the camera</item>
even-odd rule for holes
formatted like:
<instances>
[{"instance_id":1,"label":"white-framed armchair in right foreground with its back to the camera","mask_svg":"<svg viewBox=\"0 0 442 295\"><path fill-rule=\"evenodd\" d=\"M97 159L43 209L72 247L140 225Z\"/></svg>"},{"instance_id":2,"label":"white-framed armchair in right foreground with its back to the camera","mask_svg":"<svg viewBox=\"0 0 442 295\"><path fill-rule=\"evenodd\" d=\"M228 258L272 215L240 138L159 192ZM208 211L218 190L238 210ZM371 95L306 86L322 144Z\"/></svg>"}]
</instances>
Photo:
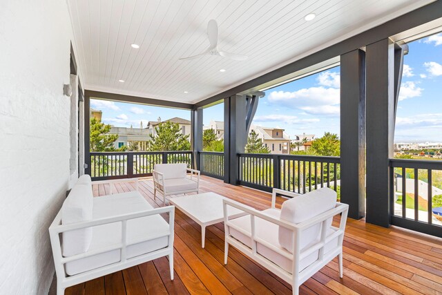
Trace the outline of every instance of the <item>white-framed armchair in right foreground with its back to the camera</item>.
<instances>
[{"instance_id":1,"label":"white-framed armchair in right foreground with its back to the camera","mask_svg":"<svg viewBox=\"0 0 442 295\"><path fill-rule=\"evenodd\" d=\"M291 199L276 209L276 194ZM298 294L300 285L336 256L343 277L348 205L336 202L336 192L332 189L317 189L305 195L273 189L271 208L264 211L233 200L223 202L225 264L232 245L291 284L293 294ZM229 207L248 215L229 219ZM341 213L339 227L333 227L332 218Z\"/></svg>"}]
</instances>

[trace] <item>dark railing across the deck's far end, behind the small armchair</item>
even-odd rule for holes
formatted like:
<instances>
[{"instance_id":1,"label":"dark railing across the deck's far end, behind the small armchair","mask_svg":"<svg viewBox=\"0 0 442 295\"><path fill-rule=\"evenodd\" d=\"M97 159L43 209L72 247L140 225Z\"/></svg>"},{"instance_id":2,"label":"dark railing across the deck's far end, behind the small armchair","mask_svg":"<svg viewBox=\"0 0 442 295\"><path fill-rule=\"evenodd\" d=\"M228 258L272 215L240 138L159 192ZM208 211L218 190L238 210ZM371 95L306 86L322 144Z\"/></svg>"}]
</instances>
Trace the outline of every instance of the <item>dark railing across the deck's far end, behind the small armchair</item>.
<instances>
[{"instance_id":1,"label":"dark railing across the deck's far end, behind the small armchair","mask_svg":"<svg viewBox=\"0 0 442 295\"><path fill-rule=\"evenodd\" d=\"M193 164L192 151L90 152L93 180L151 176L155 164Z\"/></svg>"}]
</instances>

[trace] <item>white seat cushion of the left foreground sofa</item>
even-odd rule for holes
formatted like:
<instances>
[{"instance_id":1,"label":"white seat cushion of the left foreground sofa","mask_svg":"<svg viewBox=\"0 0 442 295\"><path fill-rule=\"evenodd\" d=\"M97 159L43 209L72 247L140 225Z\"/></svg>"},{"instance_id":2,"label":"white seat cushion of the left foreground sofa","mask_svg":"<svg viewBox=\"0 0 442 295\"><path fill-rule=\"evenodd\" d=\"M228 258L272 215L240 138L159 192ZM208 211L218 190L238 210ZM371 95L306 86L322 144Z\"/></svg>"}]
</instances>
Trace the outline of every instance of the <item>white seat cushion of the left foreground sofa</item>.
<instances>
[{"instance_id":1,"label":"white seat cushion of the left foreground sofa","mask_svg":"<svg viewBox=\"0 0 442 295\"><path fill-rule=\"evenodd\" d=\"M93 218L106 218L126 213L135 213L153 209L137 191L117 193L111 196L96 197L94 201ZM168 246L167 236L141 242L151 236L166 234L169 232L169 224L160 215L146 216L128 220L126 257L133 258ZM122 239L122 224L115 222L108 225L93 227L93 238L88 251L95 251L118 245ZM120 251L106 251L87 258L81 258L66 263L66 274L73 276L91 269L119 262Z\"/></svg>"}]
</instances>

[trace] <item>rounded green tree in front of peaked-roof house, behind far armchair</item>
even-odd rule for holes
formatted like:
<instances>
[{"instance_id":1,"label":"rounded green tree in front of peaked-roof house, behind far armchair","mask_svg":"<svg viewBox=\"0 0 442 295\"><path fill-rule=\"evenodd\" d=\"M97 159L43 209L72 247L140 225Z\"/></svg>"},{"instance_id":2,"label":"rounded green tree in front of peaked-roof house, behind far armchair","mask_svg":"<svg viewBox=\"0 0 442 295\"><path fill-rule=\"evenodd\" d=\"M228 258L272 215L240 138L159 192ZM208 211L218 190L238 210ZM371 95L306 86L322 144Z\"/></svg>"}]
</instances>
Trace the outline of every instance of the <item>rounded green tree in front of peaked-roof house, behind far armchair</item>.
<instances>
[{"instance_id":1,"label":"rounded green tree in front of peaked-roof house, behind far armchair","mask_svg":"<svg viewBox=\"0 0 442 295\"><path fill-rule=\"evenodd\" d=\"M162 122L155 127L155 135L150 134L149 151L189 151L189 135L182 134L180 124Z\"/></svg>"}]
</instances>

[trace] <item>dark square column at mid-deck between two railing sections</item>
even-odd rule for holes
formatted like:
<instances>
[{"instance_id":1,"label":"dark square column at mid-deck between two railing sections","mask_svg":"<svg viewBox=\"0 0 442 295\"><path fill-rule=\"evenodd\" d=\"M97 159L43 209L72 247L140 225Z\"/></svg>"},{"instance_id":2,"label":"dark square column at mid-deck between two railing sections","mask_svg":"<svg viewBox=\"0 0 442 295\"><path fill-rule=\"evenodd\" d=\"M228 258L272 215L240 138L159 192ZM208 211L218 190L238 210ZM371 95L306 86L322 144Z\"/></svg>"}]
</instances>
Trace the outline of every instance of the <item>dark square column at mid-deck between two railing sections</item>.
<instances>
[{"instance_id":1,"label":"dark square column at mid-deck between two railing sections","mask_svg":"<svg viewBox=\"0 0 442 295\"><path fill-rule=\"evenodd\" d=\"M238 153L247 143L246 97L224 99L224 182L238 184Z\"/></svg>"}]
</instances>

